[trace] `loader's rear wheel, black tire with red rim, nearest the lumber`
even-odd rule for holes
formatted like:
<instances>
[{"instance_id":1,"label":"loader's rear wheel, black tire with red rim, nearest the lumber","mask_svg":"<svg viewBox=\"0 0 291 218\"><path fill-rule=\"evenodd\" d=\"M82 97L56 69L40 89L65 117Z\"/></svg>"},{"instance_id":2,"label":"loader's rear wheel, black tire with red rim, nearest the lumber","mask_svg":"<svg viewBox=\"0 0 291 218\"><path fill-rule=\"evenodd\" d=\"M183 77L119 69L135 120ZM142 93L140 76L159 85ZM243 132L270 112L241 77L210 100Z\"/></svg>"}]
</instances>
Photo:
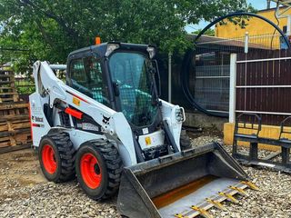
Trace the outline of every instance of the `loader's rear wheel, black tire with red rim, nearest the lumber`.
<instances>
[{"instance_id":1,"label":"loader's rear wheel, black tire with red rim, nearest the lumber","mask_svg":"<svg viewBox=\"0 0 291 218\"><path fill-rule=\"evenodd\" d=\"M55 164L55 171L47 170L47 147L54 153L55 163L52 164ZM45 135L39 145L38 159L48 181L62 183L75 178L75 148L69 134L64 132Z\"/></svg>"}]
</instances>

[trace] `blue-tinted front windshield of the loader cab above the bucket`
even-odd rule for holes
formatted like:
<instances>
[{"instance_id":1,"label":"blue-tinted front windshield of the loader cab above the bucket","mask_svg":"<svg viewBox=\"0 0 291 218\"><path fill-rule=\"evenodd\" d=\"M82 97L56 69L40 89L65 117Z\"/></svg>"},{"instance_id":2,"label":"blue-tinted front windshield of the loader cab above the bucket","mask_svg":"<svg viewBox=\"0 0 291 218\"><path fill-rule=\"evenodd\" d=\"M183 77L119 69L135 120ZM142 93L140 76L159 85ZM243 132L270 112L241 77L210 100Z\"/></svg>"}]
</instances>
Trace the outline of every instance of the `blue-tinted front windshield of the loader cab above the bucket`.
<instances>
[{"instance_id":1,"label":"blue-tinted front windshield of the loader cab above the bucket","mask_svg":"<svg viewBox=\"0 0 291 218\"><path fill-rule=\"evenodd\" d=\"M157 114L149 64L146 55L139 53L117 52L109 59L112 81L119 87L121 110L135 126L153 124Z\"/></svg>"}]
</instances>

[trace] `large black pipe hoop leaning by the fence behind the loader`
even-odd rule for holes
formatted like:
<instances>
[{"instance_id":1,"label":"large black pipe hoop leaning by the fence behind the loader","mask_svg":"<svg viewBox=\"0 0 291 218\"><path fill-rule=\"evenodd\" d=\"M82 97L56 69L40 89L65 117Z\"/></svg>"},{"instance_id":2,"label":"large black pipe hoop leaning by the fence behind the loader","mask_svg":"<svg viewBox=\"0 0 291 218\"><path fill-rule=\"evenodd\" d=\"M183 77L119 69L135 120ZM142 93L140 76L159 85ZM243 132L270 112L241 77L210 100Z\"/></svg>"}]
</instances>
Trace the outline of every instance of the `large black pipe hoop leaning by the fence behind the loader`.
<instances>
[{"instance_id":1,"label":"large black pipe hoop leaning by the fence behind the loader","mask_svg":"<svg viewBox=\"0 0 291 218\"><path fill-rule=\"evenodd\" d=\"M224 15L221 16L219 18L217 18L216 20L214 20L213 22L211 22L209 25L206 25L206 27L198 34L196 35L196 38L194 40L194 45L196 46L196 42L197 40L201 37L201 35L205 34L206 31L212 27L213 25L216 25L216 23L228 18L228 17L232 17L232 16L242 16L242 15L247 15L247 16L254 16L256 18L259 18L263 21L265 21L266 23L268 23L269 25L272 25L278 32L280 35L282 35L283 39L286 42L286 45L288 48L290 48L290 43L286 37L286 35L284 35L283 31L277 26L275 25L272 21L266 19L266 17L261 16L261 15L256 15L253 13L249 13L249 12L236 12L236 13L232 13L232 14L228 14L228 15ZM181 82L182 82L182 89L183 92L186 96L187 101L189 102L189 104L191 104L194 108L196 108L198 111L207 114L207 115L212 115L212 116L217 116L217 117L228 117L228 114L226 113L219 113L219 112L211 112L211 111L207 111L204 107L202 107L200 104L198 104L196 102L195 97L191 94L190 89L189 89L189 83L188 83L188 78L189 78L189 69L192 66L192 57L195 55L196 53L196 49L190 50L188 51L185 56L184 56L184 60L183 60L183 64L182 64L182 74L181 74Z\"/></svg>"}]
</instances>

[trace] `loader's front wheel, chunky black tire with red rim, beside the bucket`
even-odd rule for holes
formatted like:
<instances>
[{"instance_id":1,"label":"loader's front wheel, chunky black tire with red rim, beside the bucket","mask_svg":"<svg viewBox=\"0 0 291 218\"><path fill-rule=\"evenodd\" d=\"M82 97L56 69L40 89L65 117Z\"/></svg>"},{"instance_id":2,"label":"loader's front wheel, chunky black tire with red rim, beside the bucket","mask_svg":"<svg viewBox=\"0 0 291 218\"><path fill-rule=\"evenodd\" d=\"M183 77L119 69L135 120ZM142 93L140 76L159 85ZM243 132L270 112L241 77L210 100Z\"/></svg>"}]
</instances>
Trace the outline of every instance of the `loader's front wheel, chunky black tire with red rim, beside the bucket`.
<instances>
[{"instance_id":1,"label":"loader's front wheel, chunky black tire with red rim, beside the bucket","mask_svg":"<svg viewBox=\"0 0 291 218\"><path fill-rule=\"evenodd\" d=\"M82 167L85 166L81 164L88 164L84 163L85 155L88 154L91 156L90 158L95 157L97 161L94 171L99 178L101 176L98 184L85 182L87 175L82 172L81 169L84 169ZM115 195L119 188L122 171L123 163L118 151L115 145L107 140L101 139L85 143L76 154L75 172L78 182L85 193L94 200L104 200Z\"/></svg>"}]
</instances>

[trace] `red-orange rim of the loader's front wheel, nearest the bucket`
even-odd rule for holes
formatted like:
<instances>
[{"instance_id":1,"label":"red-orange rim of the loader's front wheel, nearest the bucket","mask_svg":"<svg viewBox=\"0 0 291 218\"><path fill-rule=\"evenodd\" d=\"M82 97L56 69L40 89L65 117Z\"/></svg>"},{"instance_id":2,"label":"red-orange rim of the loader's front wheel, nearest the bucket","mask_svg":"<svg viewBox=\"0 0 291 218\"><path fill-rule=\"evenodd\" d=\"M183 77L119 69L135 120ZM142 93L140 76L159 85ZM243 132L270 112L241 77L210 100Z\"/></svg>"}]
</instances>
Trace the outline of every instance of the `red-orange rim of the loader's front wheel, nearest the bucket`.
<instances>
[{"instance_id":1,"label":"red-orange rim of the loader's front wheel, nearest the bucket","mask_svg":"<svg viewBox=\"0 0 291 218\"><path fill-rule=\"evenodd\" d=\"M95 155L84 154L81 158L80 168L85 184L91 189L98 188L102 180L102 172Z\"/></svg>"}]
</instances>

